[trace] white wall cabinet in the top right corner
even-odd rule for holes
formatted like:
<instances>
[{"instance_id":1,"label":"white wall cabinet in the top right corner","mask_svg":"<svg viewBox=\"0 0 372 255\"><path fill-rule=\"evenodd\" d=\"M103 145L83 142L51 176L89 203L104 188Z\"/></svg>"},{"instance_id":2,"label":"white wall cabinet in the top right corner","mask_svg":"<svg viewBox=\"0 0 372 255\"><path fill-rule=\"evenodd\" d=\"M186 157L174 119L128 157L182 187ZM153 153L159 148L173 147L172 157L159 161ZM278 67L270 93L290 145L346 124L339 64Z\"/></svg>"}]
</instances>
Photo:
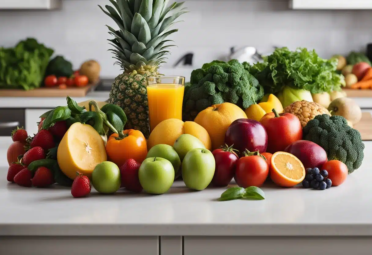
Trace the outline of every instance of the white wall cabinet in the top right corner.
<instances>
[{"instance_id":1,"label":"white wall cabinet in the top right corner","mask_svg":"<svg viewBox=\"0 0 372 255\"><path fill-rule=\"evenodd\" d=\"M372 9L371 0L290 0L294 10L365 10Z\"/></svg>"}]
</instances>

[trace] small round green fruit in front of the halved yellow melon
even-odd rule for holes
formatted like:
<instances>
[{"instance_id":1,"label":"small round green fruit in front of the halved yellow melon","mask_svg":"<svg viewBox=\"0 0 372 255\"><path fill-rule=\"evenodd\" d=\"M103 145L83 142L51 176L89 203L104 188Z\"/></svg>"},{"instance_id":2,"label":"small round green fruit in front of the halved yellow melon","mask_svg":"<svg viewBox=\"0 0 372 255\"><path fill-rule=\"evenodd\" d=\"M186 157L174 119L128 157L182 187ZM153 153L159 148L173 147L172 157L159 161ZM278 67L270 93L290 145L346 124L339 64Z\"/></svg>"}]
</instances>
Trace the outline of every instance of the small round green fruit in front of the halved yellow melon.
<instances>
[{"instance_id":1,"label":"small round green fruit in front of the halved yellow melon","mask_svg":"<svg viewBox=\"0 0 372 255\"><path fill-rule=\"evenodd\" d=\"M99 193L115 193L121 185L119 167L110 161L98 164L92 172L92 185Z\"/></svg>"}]
</instances>

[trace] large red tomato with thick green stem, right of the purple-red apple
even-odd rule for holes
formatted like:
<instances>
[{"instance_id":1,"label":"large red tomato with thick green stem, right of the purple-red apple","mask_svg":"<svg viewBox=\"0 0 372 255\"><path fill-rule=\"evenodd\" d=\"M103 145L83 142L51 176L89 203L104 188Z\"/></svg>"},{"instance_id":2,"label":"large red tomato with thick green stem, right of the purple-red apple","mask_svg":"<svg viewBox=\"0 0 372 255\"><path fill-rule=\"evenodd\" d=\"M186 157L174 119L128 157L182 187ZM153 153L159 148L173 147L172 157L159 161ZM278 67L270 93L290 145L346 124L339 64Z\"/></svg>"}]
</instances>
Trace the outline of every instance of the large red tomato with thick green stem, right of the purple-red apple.
<instances>
[{"instance_id":1,"label":"large red tomato with thick green stem, right of the purple-red apple","mask_svg":"<svg viewBox=\"0 0 372 255\"><path fill-rule=\"evenodd\" d=\"M284 151L292 142L302 139L302 126L292 113L266 113L261 124L267 132L267 152Z\"/></svg>"}]
</instances>

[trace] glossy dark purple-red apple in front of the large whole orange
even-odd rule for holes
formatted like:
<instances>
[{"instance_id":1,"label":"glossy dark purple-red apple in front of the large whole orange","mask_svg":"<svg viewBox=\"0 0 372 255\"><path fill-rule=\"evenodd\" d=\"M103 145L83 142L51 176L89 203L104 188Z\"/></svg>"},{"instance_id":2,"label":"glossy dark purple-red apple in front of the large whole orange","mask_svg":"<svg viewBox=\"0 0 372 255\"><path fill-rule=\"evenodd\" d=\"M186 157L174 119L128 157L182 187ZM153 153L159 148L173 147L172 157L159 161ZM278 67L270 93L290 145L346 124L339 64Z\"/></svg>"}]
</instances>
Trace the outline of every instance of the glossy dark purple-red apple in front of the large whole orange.
<instances>
[{"instance_id":1,"label":"glossy dark purple-red apple in front of the large whole orange","mask_svg":"<svg viewBox=\"0 0 372 255\"><path fill-rule=\"evenodd\" d=\"M225 133L225 144L233 145L241 154L248 151L266 152L267 133L262 124L251 119L237 119Z\"/></svg>"}]
</instances>

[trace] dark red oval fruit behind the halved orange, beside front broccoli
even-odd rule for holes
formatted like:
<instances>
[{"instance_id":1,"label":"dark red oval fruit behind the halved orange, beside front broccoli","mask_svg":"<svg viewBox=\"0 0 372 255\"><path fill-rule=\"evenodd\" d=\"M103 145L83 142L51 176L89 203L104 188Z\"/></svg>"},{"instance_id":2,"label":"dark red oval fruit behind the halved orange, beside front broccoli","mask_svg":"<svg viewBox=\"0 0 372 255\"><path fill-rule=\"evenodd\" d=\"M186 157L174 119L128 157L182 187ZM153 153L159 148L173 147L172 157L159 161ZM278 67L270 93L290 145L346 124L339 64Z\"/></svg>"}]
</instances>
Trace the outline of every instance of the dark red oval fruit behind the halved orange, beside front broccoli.
<instances>
[{"instance_id":1,"label":"dark red oval fruit behind the halved orange, beside front broccoli","mask_svg":"<svg viewBox=\"0 0 372 255\"><path fill-rule=\"evenodd\" d=\"M315 142L298 140L285 148L286 152L295 155L306 168L318 167L319 169L328 161L327 153Z\"/></svg>"}]
</instances>

